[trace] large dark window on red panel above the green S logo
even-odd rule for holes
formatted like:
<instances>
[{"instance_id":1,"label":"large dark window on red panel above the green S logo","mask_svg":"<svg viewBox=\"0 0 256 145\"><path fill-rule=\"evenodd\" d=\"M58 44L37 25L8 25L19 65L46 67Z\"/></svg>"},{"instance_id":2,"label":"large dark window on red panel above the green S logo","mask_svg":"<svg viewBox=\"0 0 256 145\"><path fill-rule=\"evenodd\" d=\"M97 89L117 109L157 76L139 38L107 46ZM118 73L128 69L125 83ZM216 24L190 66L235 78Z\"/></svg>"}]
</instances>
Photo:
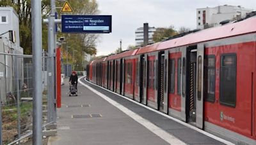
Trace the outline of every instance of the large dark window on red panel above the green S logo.
<instances>
[{"instance_id":1,"label":"large dark window on red panel above the green S logo","mask_svg":"<svg viewBox=\"0 0 256 145\"><path fill-rule=\"evenodd\" d=\"M236 54L221 55L220 104L236 107Z\"/></svg>"}]
</instances>

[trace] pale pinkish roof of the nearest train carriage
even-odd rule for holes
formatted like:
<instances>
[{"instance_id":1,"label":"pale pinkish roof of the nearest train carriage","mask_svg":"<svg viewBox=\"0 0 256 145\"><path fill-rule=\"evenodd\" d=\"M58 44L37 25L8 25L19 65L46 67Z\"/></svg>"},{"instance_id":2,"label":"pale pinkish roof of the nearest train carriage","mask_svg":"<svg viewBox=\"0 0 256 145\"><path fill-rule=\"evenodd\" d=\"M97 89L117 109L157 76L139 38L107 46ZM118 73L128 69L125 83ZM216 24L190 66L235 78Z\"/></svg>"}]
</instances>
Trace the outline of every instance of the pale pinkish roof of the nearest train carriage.
<instances>
[{"instance_id":1,"label":"pale pinkish roof of the nearest train carriage","mask_svg":"<svg viewBox=\"0 0 256 145\"><path fill-rule=\"evenodd\" d=\"M193 32L180 38L170 39L153 45L148 45L139 48L136 54L154 52L157 50L165 50L168 48L175 48L179 46L193 45L204 41L211 41L214 39L228 38L238 36L241 34L249 34L256 32L256 17L251 17L246 20L235 22L233 24L222 25L220 27L212 27L202 31Z\"/></svg>"}]
</instances>

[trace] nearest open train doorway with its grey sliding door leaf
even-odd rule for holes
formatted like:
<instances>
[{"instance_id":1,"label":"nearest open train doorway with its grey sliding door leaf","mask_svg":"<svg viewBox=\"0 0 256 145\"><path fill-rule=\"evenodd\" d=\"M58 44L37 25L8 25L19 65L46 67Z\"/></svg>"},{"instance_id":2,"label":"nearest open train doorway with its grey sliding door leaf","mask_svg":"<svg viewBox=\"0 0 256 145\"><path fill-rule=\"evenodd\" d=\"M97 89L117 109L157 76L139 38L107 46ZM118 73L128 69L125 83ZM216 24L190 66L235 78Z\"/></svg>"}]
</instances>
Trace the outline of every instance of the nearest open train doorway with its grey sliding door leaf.
<instances>
[{"instance_id":1,"label":"nearest open train doorway with its grey sliding door leaf","mask_svg":"<svg viewBox=\"0 0 256 145\"><path fill-rule=\"evenodd\" d=\"M186 119L196 127L203 128L204 45L189 46L187 53Z\"/></svg>"}]
</instances>

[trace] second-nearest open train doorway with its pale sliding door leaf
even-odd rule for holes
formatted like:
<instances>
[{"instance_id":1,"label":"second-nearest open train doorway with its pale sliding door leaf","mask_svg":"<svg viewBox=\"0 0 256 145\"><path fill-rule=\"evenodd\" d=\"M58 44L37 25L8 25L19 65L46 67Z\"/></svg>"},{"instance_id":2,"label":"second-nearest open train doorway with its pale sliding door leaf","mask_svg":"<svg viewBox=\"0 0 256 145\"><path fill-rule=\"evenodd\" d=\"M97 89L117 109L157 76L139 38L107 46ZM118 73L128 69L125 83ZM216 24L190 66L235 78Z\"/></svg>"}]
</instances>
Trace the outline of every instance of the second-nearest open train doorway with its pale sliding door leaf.
<instances>
[{"instance_id":1,"label":"second-nearest open train doorway with its pale sliding door leaf","mask_svg":"<svg viewBox=\"0 0 256 145\"><path fill-rule=\"evenodd\" d=\"M166 55L167 54L167 55ZM158 63L157 63L157 106L159 111L163 113L168 113L168 94L166 88L166 75L167 75L167 59L168 52L159 52L158 53Z\"/></svg>"}]
</instances>

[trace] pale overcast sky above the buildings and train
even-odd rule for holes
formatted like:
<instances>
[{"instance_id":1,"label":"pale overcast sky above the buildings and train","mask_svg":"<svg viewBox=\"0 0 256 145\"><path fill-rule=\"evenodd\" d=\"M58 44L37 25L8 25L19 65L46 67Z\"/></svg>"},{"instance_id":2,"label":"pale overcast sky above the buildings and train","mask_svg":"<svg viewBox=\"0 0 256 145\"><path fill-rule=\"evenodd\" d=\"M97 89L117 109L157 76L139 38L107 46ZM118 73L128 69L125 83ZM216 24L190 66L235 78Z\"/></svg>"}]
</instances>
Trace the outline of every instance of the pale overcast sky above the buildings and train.
<instances>
[{"instance_id":1,"label":"pale overcast sky above the buildings and train","mask_svg":"<svg viewBox=\"0 0 256 145\"><path fill-rule=\"evenodd\" d=\"M119 47L135 45L135 30L148 22L150 27L189 27L196 29L196 8L241 5L256 10L256 0L97 0L100 15L112 15L112 33L102 34L97 56L108 55Z\"/></svg>"}]
</instances>

